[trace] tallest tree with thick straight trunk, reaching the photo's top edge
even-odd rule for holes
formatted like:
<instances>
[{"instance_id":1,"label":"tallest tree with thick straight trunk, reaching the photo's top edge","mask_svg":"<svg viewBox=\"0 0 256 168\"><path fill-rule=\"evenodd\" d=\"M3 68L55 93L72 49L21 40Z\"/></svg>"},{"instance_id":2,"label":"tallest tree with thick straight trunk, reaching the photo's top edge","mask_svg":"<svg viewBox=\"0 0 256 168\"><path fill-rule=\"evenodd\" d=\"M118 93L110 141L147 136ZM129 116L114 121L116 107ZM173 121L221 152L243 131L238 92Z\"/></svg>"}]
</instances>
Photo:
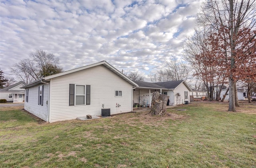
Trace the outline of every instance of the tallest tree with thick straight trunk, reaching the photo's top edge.
<instances>
[{"instance_id":1,"label":"tallest tree with thick straight trunk, reaching the photo's top edge","mask_svg":"<svg viewBox=\"0 0 256 168\"><path fill-rule=\"evenodd\" d=\"M255 27L255 6L256 0L207 0L198 14L198 23L210 26L219 35L222 35L224 37L223 41L226 41L226 44L223 42L219 47L224 52L226 50L230 53L226 55L230 94L228 111L236 111L235 82L237 75L234 72L235 68L238 67L237 48L241 45L241 43L237 43L239 31L242 28L253 29ZM255 35L250 38L254 39Z\"/></svg>"}]
</instances>

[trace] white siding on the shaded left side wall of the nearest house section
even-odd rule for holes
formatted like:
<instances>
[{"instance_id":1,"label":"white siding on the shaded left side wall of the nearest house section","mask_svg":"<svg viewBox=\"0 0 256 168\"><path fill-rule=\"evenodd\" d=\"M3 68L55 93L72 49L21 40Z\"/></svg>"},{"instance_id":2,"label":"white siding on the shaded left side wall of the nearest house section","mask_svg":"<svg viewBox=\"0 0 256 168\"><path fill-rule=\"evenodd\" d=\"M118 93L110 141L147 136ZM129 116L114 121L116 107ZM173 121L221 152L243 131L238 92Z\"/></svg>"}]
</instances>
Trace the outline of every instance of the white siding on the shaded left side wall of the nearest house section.
<instances>
[{"instance_id":1,"label":"white siding on the shaded left side wall of the nearest house section","mask_svg":"<svg viewBox=\"0 0 256 168\"><path fill-rule=\"evenodd\" d=\"M44 91L42 92L43 96L43 105L38 105L38 87L42 86L34 86L29 88L28 93L28 102L24 102L24 109L28 112L36 115L37 117L47 121L47 106L46 101L48 100L48 85L44 85Z\"/></svg>"}]
</instances>

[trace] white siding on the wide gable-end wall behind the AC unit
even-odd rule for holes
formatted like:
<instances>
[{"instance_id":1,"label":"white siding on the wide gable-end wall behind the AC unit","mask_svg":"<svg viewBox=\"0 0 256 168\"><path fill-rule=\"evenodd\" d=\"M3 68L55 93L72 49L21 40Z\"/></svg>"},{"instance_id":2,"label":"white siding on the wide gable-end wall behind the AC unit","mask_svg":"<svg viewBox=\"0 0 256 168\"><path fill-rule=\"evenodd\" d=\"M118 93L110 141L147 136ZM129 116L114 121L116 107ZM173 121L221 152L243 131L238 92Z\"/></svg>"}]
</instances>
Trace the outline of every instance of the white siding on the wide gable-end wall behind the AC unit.
<instances>
[{"instance_id":1,"label":"white siding on the wide gable-end wall behind the AC unit","mask_svg":"<svg viewBox=\"0 0 256 168\"><path fill-rule=\"evenodd\" d=\"M132 85L104 65L52 78L50 84L50 122L101 115L102 104L111 114L132 111ZM90 85L90 105L69 105L69 84ZM122 91L122 97L116 97L115 90Z\"/></svg>"}]
</instances>

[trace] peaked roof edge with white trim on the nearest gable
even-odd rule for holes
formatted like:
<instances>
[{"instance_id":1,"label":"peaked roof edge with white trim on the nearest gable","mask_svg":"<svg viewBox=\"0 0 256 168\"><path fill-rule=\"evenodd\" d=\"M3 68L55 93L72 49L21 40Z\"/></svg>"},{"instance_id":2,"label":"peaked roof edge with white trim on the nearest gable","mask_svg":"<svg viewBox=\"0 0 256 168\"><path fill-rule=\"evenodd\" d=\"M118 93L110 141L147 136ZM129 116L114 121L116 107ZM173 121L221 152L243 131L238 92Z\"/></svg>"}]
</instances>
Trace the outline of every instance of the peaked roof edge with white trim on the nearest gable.
<instances>
[{"instance_id":1,"label":"peaked roof edge with white trim on the nearest gable","mask_svg":"<svg viewBox=\"0 0 256 168\"><path fill-rule=\"evenodd\" d=\"M112 72L114 72L115 74L117 74L118 76L120 76L121 78L123 78L124 80L126 80L126 82L129 82L130 84L132 84L132 86L138 86L135 82L133 82L132 80L130 80L130 78L128 78L127 76L125 76L124 74L122 74L119 70L117 70L116 68L114 68L114 66L110 65L109 63L107 63L106 61L101 61L99 63L95 63L95 64L90 64L90 65L86 65L86 66L82 66L80 68L75 68L75 69L72 69L72 70L67 70L65 72L60 72L58 74L54 74L54 75L50 75L50 76L46 76L46 77L43 77L41 79L38 79L22 88L29 88L31 86L35 86L37 84L41 84L42 83L42 80L44 81L47 81L47 80L50 80L52 78L56 78L56 77L59 77L59 76L63 76L63 75L66 75L66 74L70 74L70 73L73 73L73 72L77 72L77 71L80 71L80 70L84 70L84 69L88 69L88 68L92 68L94 66L98 66L98 65L103 65L105 66L106 68L110 69Z\"/></svg>"}]
</instances>

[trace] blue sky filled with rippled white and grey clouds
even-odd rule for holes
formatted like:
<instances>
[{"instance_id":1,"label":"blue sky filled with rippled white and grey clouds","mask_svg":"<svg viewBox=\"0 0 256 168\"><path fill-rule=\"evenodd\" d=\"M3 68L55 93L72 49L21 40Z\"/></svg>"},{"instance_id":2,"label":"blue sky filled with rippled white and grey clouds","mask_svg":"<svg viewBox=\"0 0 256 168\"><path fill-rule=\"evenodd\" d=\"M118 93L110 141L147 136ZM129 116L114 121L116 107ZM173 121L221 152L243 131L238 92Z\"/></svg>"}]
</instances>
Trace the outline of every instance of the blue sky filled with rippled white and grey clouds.
<instances>
[{"instance_id":1,"label":"blue sky filled with rippled white and grey clouds","mask_svg":"<svg viewBox=\"0 0 256 168\"><path fill-rule=\"evenodd\" d=\"M70 70L107 61L147 76L182 56L199 0L0 0L0 68L42 49Z\"/></svg>"}]
</instances>

